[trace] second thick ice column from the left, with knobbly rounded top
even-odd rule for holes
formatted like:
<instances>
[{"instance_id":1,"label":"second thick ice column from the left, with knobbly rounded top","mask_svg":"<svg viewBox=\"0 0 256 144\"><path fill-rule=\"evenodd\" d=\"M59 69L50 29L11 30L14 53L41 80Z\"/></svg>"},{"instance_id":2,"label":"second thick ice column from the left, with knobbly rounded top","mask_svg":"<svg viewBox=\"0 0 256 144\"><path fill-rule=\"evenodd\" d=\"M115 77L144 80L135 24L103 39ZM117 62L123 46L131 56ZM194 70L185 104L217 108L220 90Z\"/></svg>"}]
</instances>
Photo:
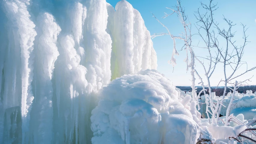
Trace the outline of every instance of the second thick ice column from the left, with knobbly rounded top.
<instances>
[{"instance_id":1,"label":"second thick ice column from the left, with knobbly rounded top","mask_svg":"<svg viewBox=\"0 0 256 144\"><path fill-rule=\"evenodd\" d=\"M51 143L53 135L52 77L54 63L59 55L56 43L61 29L50 13L40 13L37 17L38 41L35 45L35 72L37 87L37 111L39 113L35 130L36 139L42 143ZM59 109L58 109L59 110ZM38 128L37 128L38 127Z\"/></svg>"}]
</instances>

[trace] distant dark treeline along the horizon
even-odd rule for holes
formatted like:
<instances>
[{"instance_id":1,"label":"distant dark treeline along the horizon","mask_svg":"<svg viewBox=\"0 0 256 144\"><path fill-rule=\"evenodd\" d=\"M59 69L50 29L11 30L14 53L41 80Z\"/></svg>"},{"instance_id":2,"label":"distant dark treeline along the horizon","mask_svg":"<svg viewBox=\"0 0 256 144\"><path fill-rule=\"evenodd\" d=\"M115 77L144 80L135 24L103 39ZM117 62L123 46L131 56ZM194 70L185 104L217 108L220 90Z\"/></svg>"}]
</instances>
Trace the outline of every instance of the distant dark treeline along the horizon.
<instances>
[{"instance_id":1,"label":"distant dark treeline along the horizon","mask_svg":"<svg viewBox=\"0 0 256 144\"><path fill-rule=\"evenodd\" d=\"M190 86L176 86L177 88L181 89L182 91L192 91L192 88ZM223 91L224 91L224 86L219 86L218 88L215 87L211 87L212 88L212 92L215 92L216 96L221 96L223 95ZM233 88L233 87L230 87ZM202 86L197 86L197 94L203 89ZM209 94L209 88L205 87L205 89L207 89L206 94ZM229 92L229 88L227 88L227 93ZM252 90L252 93L254 93L256 91L256 85L245 85L245 86L240 86L237 91L239 93L245 93L246 94L246 90ZM227 95L226 93L226 95ZM203 95L203 92L201 93L201 95Z\"/></svg>"}]
</instances>

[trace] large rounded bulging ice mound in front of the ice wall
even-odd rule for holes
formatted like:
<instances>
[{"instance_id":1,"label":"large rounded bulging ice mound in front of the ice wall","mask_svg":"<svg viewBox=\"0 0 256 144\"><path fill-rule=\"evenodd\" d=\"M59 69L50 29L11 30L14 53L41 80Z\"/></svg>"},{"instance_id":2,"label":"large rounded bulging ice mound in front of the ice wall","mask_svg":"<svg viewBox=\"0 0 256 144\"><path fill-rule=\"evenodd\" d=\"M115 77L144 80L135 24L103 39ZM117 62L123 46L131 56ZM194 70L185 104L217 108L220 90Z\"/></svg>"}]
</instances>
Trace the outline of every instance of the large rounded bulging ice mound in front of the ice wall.
<instances>
[{"instance_id":1,"label":"large rounded bulging ice mound in front of the ice wall","mask_svg":"<svg viewBox=\"0 0 256 144\"><path fill-rule=\"evenodd\" d=\"M200 130L178 91L156 70L110 82L92 110L92 143L196 143Z\"/></svg>"}]
</instances>

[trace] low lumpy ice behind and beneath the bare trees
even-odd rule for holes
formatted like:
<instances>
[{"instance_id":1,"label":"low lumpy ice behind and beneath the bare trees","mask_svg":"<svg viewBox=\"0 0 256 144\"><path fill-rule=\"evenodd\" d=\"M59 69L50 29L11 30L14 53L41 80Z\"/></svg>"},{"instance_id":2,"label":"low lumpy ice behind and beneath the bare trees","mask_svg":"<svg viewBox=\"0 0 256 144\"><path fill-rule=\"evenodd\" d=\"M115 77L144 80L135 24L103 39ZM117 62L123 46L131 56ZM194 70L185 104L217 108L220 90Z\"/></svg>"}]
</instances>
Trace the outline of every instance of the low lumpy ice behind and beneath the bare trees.
<instances>
[{"instance_id":1,"label":"low lumpy ice behind and beneath the bare trees","mask_svg":"<svg viewBox=\"0 0 256 144\"><path fill-rule=\"evenodd\" d=\"M233 115L238 119L239 121L248 124L248 121L251 121L252 119L256 119L256 96L252 93L252 91L246 91L246 94L240 94L236 91L234 95L234 101L232 104L232 107L230 108L230 115ZM215 93L213 93L214 102L217 102L218 99L221 99L221 97L215 96ZM205 98L204 96L201 96L201 101L204 103ZM244 131L246 128L256 128L255 124L247 127L245 125L238 125L236 122L230 121L230 125L224 126L223 120L225 121L226 117L226 111L227 106L231 99L231 92L225 96L224 99L224 106L221 108L221 114L224 115L223 117L220 117L222 120L219 120L218 125L216 124L209 124L208 119L201 119L202 126L206 125L211 132L211 135L213 138L216 139L215 143L227 143L227 144L236 144L235 141L231 141L228 138L229 137L236 137L238 134L240 134L242 131ZM200 112L202 113L202 116L205 115L206 106L205 104L202 104L202 107L200 109ZM202 127L201 126L201 127ZM254 139L253 134L251 133L243 133L246 137L250 137ZM245 140L246 143L252 144L254 142L250 140Z\"/></svg>"}]
</instances>

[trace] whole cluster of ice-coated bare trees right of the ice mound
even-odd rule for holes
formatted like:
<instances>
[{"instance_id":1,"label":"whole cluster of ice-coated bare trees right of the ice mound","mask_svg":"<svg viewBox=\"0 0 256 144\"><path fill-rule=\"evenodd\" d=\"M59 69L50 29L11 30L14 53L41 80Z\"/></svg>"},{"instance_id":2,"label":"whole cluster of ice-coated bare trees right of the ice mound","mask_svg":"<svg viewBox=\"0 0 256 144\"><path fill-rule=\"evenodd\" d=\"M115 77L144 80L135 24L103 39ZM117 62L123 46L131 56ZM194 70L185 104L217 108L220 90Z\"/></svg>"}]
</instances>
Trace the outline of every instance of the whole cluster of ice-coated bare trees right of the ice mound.
<instances>
[{"instance_id":1,"label":"whole cluster of ice-coated bare trees right of the ice mound","mask_svg":"<svg viewBox=\"0 0 256 144\"><path fill-rule=\"evenodd\" d=\"M185 58L185 62L186 62L186 66L187 66L187 70L188 68L190 68L190 72L191 72L191 88L192 88L192 100L196 101L197 106L198 106L198 110L200 110L200 105L199 105L199 101L198 98L200 97L200 94L203 92L205 95L205 99L206 99L206 114L208 116L208 120L209 123L210 122L210 117L209 114L212 115L212 123L213 124L218 124L219 121L219 115L221 112L221 107L224 106L223 105L223 101L224 101L224 97L225 97L225 93L227 91L227 84L233 84L233 89L230 88L233 93L231 95L231 100L230 103L227 107L227 114L226 114L226 121L224 122L222 119L222 122L225 123L225 125L229 125L230 121L236 121L237 124L239 125L245 125L245 123L243 122L239 122L239 120L234 117L232 114L229 115L229 111L230 111L230 107L233 103L233 99L234 99L234 95L236 93L237 87L239 87L238 85L241 84L242 82L246 82L248 80L250 80L251 78L248 78L244 81L240 81L237 82L235 81L239 76L244 75L245 73L247 73L248 71L254 70L256 67L252 67L251 69L246 68L246 70L241 73L241 74L236 74L238 71L238 69L242 66L242 65L246 65L247 67L247 63L242 61L242 56L245 50L245 46L248 43L247 41L247 36L245 35L245 32L247 30L247 28L245 28L246 26L244 26L243 24L241 24L243 26L243 40L244 43L241 46L237 46L235 43L236 41L233 41L233 37L235 35L235 32L231 31L231 28L233 26L235 26L233 24L233 22L227 20L224 17L224 21L227 22L229 28L226 29L220 29L218 27L217 22L214 21L213 18L213 12L218 8L216 4L212 4L213 0L209 0L209 5L203 4L201 2L201 6L203 7L203 9L206 11L205 13L201 13L200 10L198 9L197 12L195 12L195 17L197 19L197 22L195 24L195 27L198 30L197 35L201 38L201 40L203 41L203 45L205 46L193 46L191 45L192 43L192 34L191 34L191 23L188 22L187 20L187 16L185 15L185 11L184 8L181 6L181 1L177 0L177 5L176 5L176 9L171 9L166 7L167 9L172 10L171 14L167 14L165 13L165 15L162 18L166 18L170 15L173 14L177 14L179 21L182 23L182 26L184 28L184 31L182 32L182 34L180 34L179 36L174 36L170 30L163 24L161 23L156 17L155 15L152 13L153 17L155 17L155 19L163 26L166 28L167 33L159 33L159 34L154 34L152 35L152 38L155 38L157 36L162 36L162 35L169 35L171 37L171 39L173 40L173 54L171 57L171 60L169 61L173 66L176 65L176 59L174 58L174 55L179 55L179 53L176 50L176 39L182 40L184 42L184 50L186 51L186 58ZM215 33L217 32L217 33ZM224 39L223 39L224 38ZM225 46L220 46L219 45L219 40L223 39L226 42ZM222 41L222 40L221 40ZM183 46L183 47L184 47ZM182 47L182 48L183 48ZM197 48L201 48L201 49L207 49L208 51L208 55L206 57L202 57L202 56L197 56L194 53L194 49L192 47L197 47ZM188 56L190 53L190 56ZM198 61L199 64L202 65L203 67L203 72L205 75L205 78L207 80L207 85L204 85L203 83L203 79L202 77L198 74L197 70L195 69L195 60ZM208 63L204 63L204 60L208 61ZM216 65L218 63L222 63L224 65L224 80L221 79L220 82L224 82L224 91L223 91L223 96L221 97L221 99L215 99L215 95L212 94L212 89L211 89L211 83L210 83L210 77L212 76L212 73L215 71ZM229 73L231 71L230 74L227 74L228 70ZM196 95L196 87L195 87L195 75L198 76L198 78L200 79L200 83L201 86L203 87L203 89L199 92L198 95ZM232 81L235 81L232 83ZM208 87L209 89L209 95L206 94L206 89L205 86ZM213 100L216 100L217 103L213 102ZM210 108L210 110L209 110ZM248 127L248 125L246 125ZM249 129L248 127L248 131L251 132L251 134L253 134L254 136L256 136L256 133ZM237 136L239 137L244 137L245 136ZM232 137L235 140L238 140L237 137Z\"/></svg>"}]
</instances>

